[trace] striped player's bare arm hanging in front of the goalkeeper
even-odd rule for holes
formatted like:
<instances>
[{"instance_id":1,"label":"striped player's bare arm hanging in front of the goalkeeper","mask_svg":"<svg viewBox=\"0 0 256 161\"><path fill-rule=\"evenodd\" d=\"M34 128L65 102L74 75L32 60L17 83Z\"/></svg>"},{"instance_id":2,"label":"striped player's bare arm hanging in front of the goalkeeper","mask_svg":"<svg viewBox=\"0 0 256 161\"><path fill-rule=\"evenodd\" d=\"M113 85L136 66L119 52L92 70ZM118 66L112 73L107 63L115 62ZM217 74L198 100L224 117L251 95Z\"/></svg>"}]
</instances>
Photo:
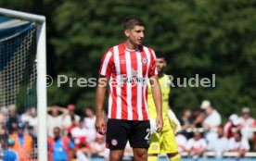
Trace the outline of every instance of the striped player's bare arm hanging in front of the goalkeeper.
<instances>
[{"instance_id":1,"label":"striped player's bare arm hanging in front of the goalkeeper","mask_svg":"<svg viewBox=\"0 0 256 161\"><path fill-rule=\"evenodd\" d=\"M157 75L151 76L150 79L153 99L156 105L157 110L157 131L160 132L162 130L163 120L162 120L162 109L161 109L161 90L160 90L160 83Z\"/></svg>"}]
</instances>

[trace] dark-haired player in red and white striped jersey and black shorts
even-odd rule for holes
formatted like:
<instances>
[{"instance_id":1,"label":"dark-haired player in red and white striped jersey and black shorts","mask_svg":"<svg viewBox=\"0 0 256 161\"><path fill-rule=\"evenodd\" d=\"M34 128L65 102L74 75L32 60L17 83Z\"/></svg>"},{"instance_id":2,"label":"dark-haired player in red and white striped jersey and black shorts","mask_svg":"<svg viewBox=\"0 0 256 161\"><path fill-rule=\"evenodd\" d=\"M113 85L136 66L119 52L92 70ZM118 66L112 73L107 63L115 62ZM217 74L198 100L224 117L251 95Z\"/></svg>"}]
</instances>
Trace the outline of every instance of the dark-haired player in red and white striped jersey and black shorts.
<instances>
[{"instance_id":1,"label":"dark-haired player in red and white striped jersey and black shorts","mask_svg":"<svg viewBox=\"0 0 256 161\"><path fill-rule=\"evenodd\" d=\"M106 146L110 160L122 160L127 141L133 147L134 160L146 161L150 143L150 124L147 107L147 79L154 84L156 124L162 129L161 92L156 58L151 48L142 45L145 24L138 18L124 20L124 43L115 45L102 57L96 89L96 130L107 129ZM109 82L108 122L103 118L103 103Z\"/></svg>"}]
</instances>

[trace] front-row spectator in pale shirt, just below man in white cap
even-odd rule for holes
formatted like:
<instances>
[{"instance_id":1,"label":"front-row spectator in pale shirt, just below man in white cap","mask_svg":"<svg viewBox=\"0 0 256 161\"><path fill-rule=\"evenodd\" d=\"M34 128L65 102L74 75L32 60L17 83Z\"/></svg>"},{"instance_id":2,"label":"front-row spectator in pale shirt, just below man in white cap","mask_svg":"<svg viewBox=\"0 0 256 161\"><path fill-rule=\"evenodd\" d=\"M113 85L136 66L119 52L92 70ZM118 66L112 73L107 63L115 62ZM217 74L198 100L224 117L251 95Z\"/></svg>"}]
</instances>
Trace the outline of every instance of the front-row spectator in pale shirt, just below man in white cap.
<instances>
[{"instance_id":1,"label":"front-row spectator in pale shirt, just below man in white cap","mask_svg":"<svg viewBox=\"0 0 256 161\"><path fill-rule=\"evenodd\" d=\"M228 139L224 136L224 128L222 126L218 127L217 134L218 137L209 142L208 150L214 151L217 157L222 157L223 153L228 151Z\"/></svg>"}]
</instances>

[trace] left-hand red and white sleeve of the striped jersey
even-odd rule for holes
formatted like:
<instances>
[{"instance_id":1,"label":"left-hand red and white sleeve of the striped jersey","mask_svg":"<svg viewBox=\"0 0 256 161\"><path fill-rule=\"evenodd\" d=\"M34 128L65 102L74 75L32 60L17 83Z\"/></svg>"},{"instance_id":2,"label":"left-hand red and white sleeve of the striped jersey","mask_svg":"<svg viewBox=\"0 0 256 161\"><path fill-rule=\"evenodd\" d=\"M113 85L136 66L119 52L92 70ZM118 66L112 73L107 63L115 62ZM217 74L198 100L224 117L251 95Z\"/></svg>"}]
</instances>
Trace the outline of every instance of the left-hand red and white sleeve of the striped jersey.
<instances>
[{"instance_id":1,"label":"left-hand red and white sleeve of the striped jersey","mask_svg":"<svg viewBox=\"0 0 256 161\"><path fill-rule=\"evenodd\" d=\"M112 73L112 69L114 67L114 61L112 52L109 50L104 56L101 58L100 68L98 70L98 74L102 76L109 77Z\"/></svg>"}]
</instances>

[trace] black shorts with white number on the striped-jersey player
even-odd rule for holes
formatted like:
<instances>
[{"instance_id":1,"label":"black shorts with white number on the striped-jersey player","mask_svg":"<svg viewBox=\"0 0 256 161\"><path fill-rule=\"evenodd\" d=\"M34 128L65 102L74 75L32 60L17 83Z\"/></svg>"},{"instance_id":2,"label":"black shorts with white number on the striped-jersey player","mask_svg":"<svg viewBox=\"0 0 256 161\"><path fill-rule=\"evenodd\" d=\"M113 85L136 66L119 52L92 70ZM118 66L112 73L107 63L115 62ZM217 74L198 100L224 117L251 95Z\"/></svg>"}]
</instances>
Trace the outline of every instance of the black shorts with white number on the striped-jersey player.
<instances>
[{"instance_id":1,"label":"black shorts with white number on the striped-jersey player","mask_svg":"<svg viewBox=\"0 0 256 161\"><path fill-rule=\"evenodd\" d=\"M110 150L124 150L127 141L133 148L148 148L150 143L149 121L109 119L106 140L106 147Z\"/></svg>"}]
</instances>

